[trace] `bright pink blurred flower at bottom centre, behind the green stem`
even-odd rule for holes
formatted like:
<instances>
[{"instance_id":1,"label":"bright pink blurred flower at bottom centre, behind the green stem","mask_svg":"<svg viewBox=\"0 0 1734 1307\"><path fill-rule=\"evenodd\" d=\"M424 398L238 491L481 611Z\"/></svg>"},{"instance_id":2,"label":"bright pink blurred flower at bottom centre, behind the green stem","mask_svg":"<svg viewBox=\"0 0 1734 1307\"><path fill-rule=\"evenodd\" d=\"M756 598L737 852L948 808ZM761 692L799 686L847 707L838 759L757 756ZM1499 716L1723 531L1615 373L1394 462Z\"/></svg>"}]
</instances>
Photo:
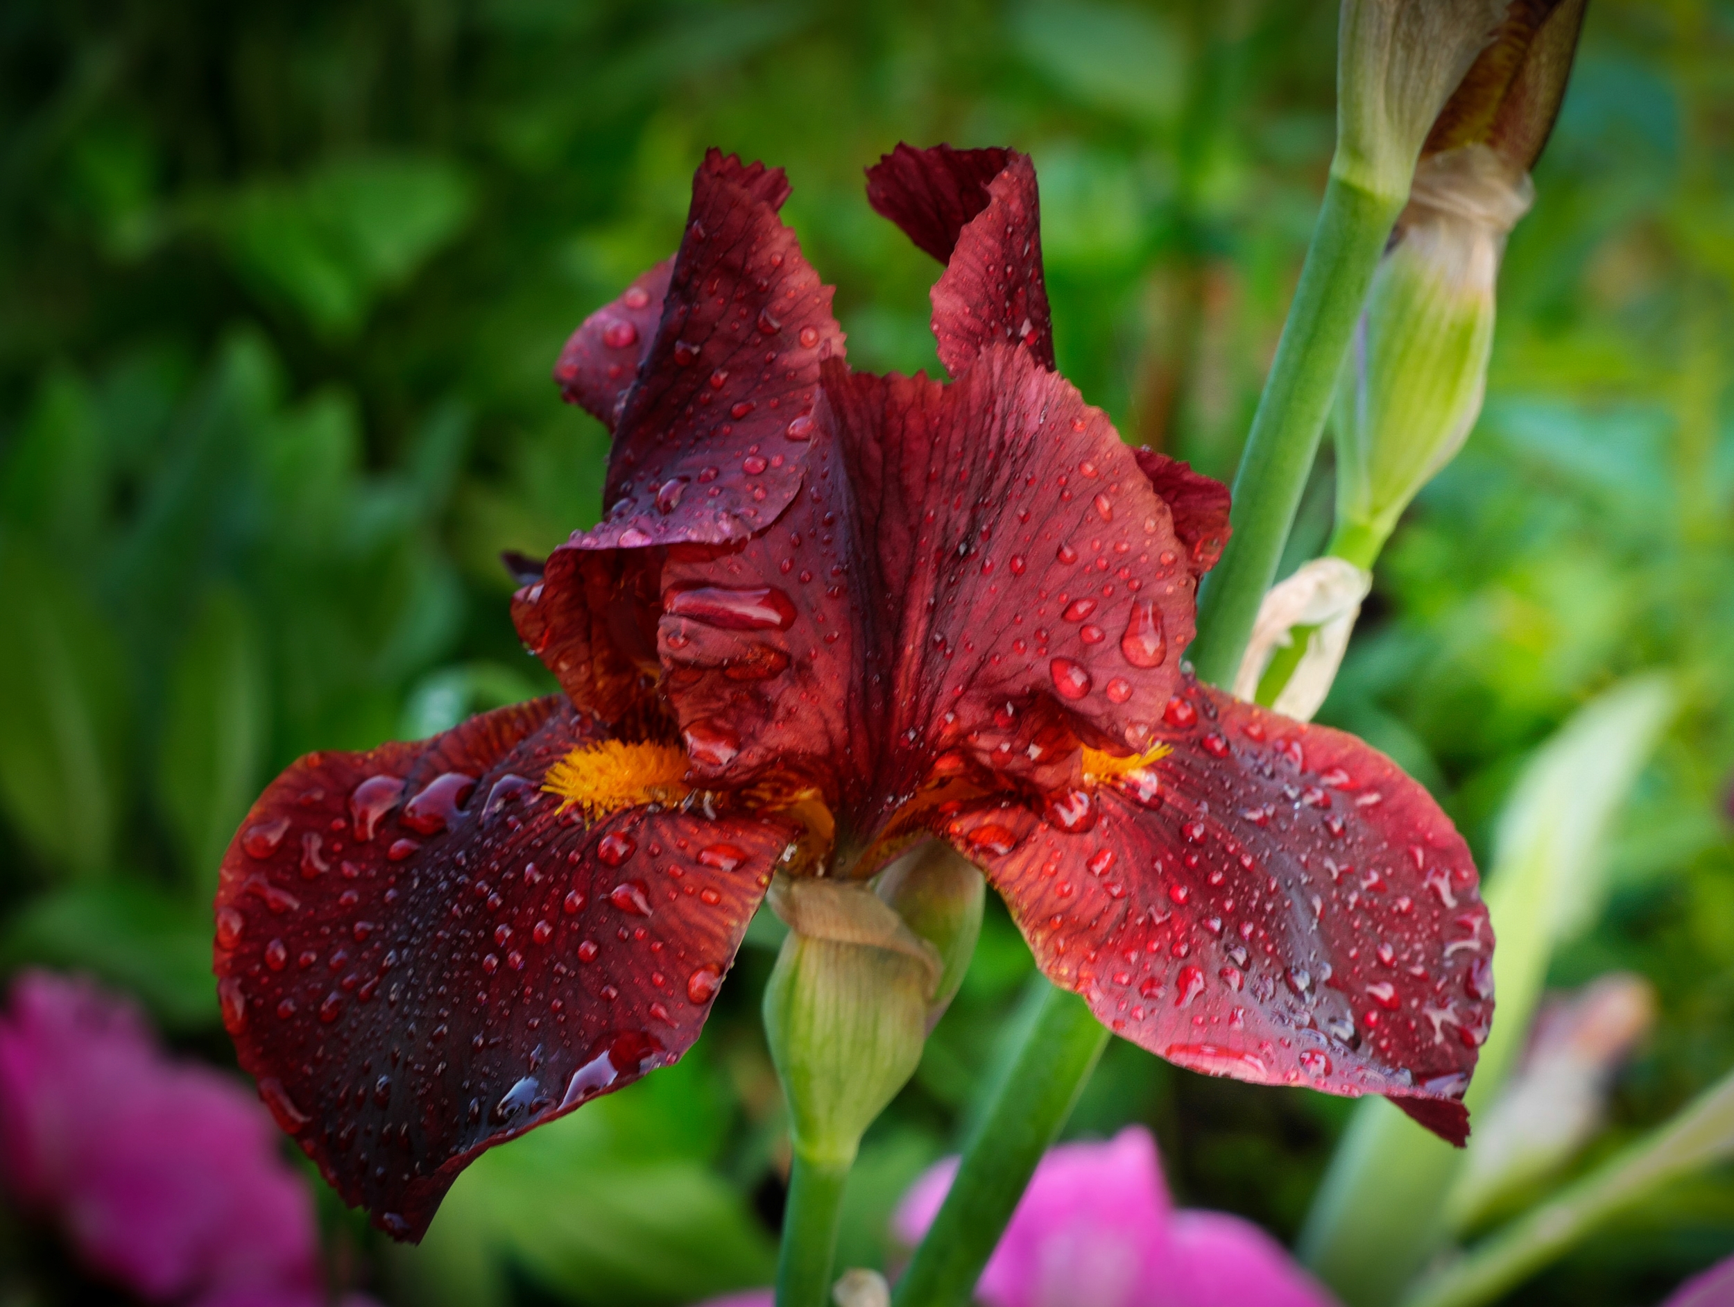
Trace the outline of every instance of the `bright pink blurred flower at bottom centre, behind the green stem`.
<instances>
[{"instance_id":1,"label":"bright pink blurred flower at bottom centre, behind the green stem","mask_svg":"<svg viewBox=\"0 0 1734 1307\"><path fill-rule=\"evenodd\" d=\"M955 1170L948 1158L916 1180L891 1222L900 1239L921 1239ZM1157 1144L1138 1125L1042 1158L976 1298L987 1307L1332 1304L1257 1226L1226 1212L1176 1212Z\"/></svg>"}]
</instances>

